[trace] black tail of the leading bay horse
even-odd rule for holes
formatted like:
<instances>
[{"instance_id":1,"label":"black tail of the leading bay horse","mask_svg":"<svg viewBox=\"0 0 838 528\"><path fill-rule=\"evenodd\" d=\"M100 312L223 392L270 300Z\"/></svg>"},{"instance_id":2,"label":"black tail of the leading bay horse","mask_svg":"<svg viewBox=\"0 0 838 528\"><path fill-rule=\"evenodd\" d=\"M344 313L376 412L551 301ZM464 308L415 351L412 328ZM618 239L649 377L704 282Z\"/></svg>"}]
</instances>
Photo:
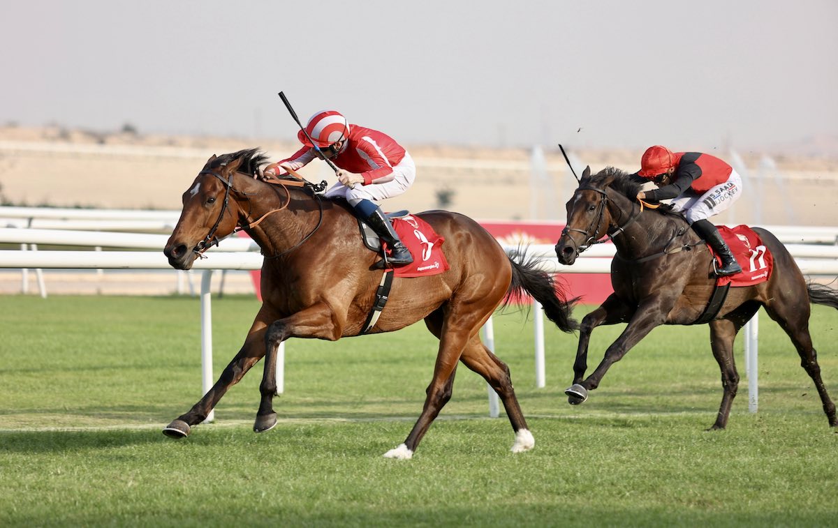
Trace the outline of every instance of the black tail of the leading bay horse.
<instances>
[{"instance_id":1,"label":"black tail of the leading bay horse","mask_svg":"<svg viewBox=\"0 0 838 528\"><path fill-rule=\"evenodd\" d=\"M579 330L578 321L571 317L579 297L567 300L564 285L556 284L551 274L539 268L539 259L526 258L520 250L509 255L509 259L512 264L512 282L502 307L509 305L515 297L529 294L541 303L547 319L553 321L561 331L569 333Z\"/></svg>"}]
</instances>

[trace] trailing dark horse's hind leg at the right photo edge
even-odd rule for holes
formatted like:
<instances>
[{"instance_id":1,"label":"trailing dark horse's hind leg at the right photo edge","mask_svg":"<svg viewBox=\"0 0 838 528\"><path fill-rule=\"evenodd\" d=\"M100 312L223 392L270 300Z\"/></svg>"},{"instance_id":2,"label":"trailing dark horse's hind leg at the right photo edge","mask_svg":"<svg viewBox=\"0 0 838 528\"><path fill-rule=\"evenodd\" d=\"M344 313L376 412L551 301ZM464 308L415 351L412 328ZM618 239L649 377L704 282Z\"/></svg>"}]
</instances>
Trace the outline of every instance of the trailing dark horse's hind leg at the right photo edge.
<instances>
[{"instance_id":1,"label":"trailing dark horse's hind leg at the right photo edge","mask_svg":"<svg viewBox=\"0 0 838 528\"><path fill-rule=\"evenodd\" d=\"M765 311L768 312L771 319L779 323L779 326L791 339L800 356L800 367L804 368L809 377L812 378L812 382L815 383L815 390L818 391L830 427L836 427L838 426L838 419L835 416L835 403L832 402L829 393L826 392L826 386L820 377L818 355L815 347L812 346L812 336L809 332L810 306L805 305L803 310L799 307L787 308L786 306L784 303L772 303L765 306Z\"/></svg>"}]
</instances>

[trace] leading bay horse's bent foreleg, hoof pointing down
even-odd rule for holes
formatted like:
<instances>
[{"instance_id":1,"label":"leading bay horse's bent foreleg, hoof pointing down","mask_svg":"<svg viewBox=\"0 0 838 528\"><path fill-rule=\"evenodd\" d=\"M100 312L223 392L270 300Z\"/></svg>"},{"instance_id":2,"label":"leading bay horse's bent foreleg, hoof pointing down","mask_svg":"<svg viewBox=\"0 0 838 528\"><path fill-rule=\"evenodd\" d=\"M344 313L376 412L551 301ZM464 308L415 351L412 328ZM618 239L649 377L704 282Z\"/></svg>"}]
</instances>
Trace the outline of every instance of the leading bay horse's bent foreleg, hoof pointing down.
<instances>
[{"instance_id":1,"label":"leading bay horse's bent foreleg, hoof pointing down","mask_svg":"<svg viewBox=\"0 0 838 528\"><path fill-rule=\"evenodd\" d=\"M325 303L318 303L296 314L275 320L265 332L265 370L259 385L261 400L256 412L253 431L264 433L277 425L277 413L273 410L273 397L277 395L277 351L282 341L289 337L313 337L336 341L342 326L334 317L334 311Z\"/></svg>"}]
</instances>

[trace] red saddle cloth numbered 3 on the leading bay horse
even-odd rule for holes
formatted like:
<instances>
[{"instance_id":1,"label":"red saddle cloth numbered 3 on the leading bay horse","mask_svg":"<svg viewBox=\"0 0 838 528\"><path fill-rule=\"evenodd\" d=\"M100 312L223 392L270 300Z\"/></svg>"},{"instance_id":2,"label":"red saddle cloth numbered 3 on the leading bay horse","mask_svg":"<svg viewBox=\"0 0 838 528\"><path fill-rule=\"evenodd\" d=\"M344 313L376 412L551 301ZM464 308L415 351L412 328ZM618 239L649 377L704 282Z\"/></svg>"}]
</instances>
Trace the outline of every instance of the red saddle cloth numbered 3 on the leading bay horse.
<instances>
[{"instance_id":1,"label":"red saddle cloth numbered 3 on the leading bay horse","mask_svg":"<svg viewBox=\"0 0 838 528\"><path fill-rule=\"evenodd\" d=\"M413 255L411 264L393 268L396 277L425 277L440 274L450 268L442 253L445 238L439 236L422 218L409 214L393 218L392 223L401 242Z\"/></svg>"}]
</instances>

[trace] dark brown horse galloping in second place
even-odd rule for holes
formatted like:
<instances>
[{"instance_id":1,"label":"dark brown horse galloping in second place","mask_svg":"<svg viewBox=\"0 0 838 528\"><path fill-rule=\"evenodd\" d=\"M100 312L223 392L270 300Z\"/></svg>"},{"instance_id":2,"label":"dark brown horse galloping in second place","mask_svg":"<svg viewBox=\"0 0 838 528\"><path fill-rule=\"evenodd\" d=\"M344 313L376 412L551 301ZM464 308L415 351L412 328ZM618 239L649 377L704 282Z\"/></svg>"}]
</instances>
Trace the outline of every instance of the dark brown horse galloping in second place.
<instances>
[{"instance_id":1,"label":"dark brown horse galloping in second place","mask_svg":"<svg viewBox=\"0 0 838 528\"><path fill-rule=\"evenodd\" d=\"M599 387L608 368L655 326L701 322L699 317L714 290L713 257L706 244L680 214L665 208L644 210L636 201L644 182L613 167L595 175L587 167L566 204L566 228L556 243L561 264L573 264L582 251L607 239L612 239L617 249L611 263L614 293L582 319L573 385L566 390L571 404L585 402L588 391ZM730 288L721 309L709 320L711 349L722 371L723 388L722 405L710 429L727 426L739 382L733 341L760 306L791 338L801 366L815 382L826 418L835 427L835 404L820 377L809 317L810 303L838 309L838 292L807 284L783 243L766 229L753 230L773 254L773 273L767 282ZM600 240L605 236L608 238ZM617 323L628 326L586 378L591 332L597 326Z\"/></svg>"}]
</instances>

